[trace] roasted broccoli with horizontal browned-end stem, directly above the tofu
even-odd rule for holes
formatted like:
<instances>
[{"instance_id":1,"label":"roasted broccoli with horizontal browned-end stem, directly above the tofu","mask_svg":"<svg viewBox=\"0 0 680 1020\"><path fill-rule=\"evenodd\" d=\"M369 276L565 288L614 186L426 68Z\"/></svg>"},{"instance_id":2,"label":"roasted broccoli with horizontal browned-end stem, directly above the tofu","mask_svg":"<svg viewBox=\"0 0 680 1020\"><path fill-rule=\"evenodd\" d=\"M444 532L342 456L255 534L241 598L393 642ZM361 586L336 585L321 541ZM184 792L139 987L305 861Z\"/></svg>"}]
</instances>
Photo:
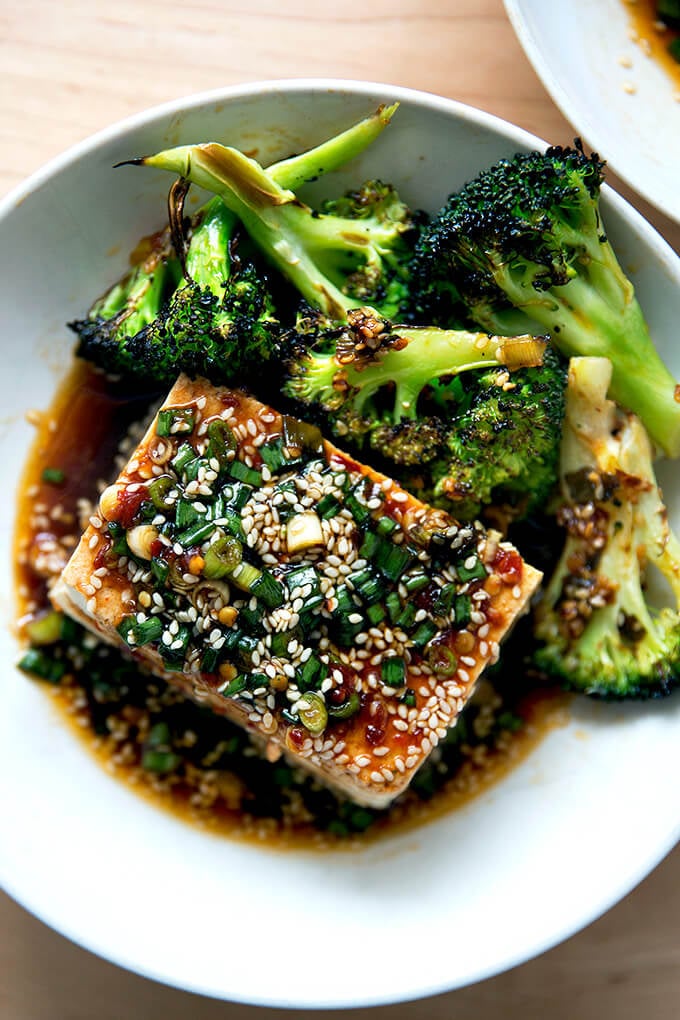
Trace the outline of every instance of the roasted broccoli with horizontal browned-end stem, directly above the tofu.
<instances>
[{"instance_id":1,"label":"roasted broccoli with horizontal browned-end stem, directly above the tofu","mask_svg":"<svg viewBox=\"0 0 680 1020\"><path fill-rule=\"evenodd\" d=\"M310 316L286 344L282 392L344 443L459 519L501 501L510 516L557 480L566 369L546 342Z\"/></svg>"}]
</instances>

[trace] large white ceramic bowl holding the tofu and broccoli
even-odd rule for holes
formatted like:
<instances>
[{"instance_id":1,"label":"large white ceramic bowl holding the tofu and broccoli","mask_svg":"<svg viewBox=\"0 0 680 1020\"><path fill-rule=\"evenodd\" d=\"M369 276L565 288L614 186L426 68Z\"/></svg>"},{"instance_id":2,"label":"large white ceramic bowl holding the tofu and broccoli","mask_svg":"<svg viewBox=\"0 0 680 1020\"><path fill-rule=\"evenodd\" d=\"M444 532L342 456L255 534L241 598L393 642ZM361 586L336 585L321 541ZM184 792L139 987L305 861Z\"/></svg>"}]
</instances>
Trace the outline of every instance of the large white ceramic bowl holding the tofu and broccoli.
<instances>
[{"instance_id":1,"label":"large white ceramic bowl holding the tofu and broccoli","mask_svg":"<svg viewBox=\"0 0 680 1020\"><path fill-rule=\"evenodd\" d=\"M72 340L63 323L164 218L167 177L112 164L206 139L257 146L269 161L394 99L402 103L394 123L333 189L379 174L407 201L434 210L479 168L542 144L486 113L404 89L265 83L126 120L51 163L3 204L6 493L32 439L23 412L50 402L68 362ZM616 195L608 192L604 207L659 346L680 373L680 261ZM668 495L680 523L678 486ZM11 499L1 521L9 622ZM524 765L420 830L355 854L273 853L205 835L111 778L40 685L13 670L15 654L3 628L0 879L82 946L182 988L294 1007L388 1003L454 988L572 934L624 896L678 836L677 698L626 708L577 703L571 724Z\"/></svg>"}]
</instances>

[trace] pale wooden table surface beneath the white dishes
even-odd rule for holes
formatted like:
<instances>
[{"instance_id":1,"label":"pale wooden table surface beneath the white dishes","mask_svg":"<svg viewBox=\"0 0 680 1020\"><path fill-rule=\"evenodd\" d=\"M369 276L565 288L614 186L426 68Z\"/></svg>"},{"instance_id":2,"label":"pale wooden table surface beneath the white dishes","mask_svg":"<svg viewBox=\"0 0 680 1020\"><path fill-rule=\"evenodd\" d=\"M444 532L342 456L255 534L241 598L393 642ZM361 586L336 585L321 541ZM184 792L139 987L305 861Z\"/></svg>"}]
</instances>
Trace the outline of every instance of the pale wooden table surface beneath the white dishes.
<instances>
[{"instance_id":1,"label":"pale wooden table surface beneath the white dishes","mask_svg":"<svg viewBox=\"0 0 680 1020\"><path fill-rule=\"evenodd\" d=\"M323 75L439 93L555 142L574 134L502 0L0 0L0 196L72 143L156 103L257 79ZM620 190L680 251L680 226ZM11 838L6 825L2 838ZM575 866L587 867L587 848ZM400 1020L677 1020L679 885L676 851L606 917L538 960L449 996L370 1012ZM2 1020L278 1015L128 974L0 898Z\"/></svg>"}]
</instances>

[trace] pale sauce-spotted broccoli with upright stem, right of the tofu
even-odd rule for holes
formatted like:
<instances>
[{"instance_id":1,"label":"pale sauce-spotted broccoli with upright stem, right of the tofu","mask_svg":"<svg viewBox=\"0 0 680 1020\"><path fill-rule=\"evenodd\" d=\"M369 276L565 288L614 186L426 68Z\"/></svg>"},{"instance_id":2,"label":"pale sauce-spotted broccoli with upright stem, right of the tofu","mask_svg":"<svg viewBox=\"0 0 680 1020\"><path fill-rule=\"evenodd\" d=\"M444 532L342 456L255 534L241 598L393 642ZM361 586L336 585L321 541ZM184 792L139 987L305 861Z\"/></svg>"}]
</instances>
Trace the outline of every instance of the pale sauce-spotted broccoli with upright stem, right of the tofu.
<instances>
[{"instance_id":1,"label":"pale sauce-spotted broccoli with upright stem, right of the tofu","mask_svg":"<svg viewBox=\"0 0 680 1020\"><path fill-rule=\"evenodd\" d=\"M601 698L667 695L680 677L680 544L639 418L607 399L612 366L575 358L569 370L558 520L565 547L535 615L535 663ZM652 606L650 568L672 604Z\"/></svg>"}]
</instances>

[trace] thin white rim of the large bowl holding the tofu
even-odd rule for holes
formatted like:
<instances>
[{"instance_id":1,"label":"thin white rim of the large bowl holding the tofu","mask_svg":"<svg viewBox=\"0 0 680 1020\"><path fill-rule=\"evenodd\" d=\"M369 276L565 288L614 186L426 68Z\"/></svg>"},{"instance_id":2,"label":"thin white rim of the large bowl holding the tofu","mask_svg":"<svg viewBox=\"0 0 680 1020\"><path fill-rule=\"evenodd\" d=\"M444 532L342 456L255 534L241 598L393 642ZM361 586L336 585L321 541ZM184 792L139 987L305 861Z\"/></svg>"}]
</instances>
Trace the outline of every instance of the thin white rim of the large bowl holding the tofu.
<instances>
[{"instance_id":1,"label":"thin white rim of the large bowl holding the tofu","mask_svg":"<svg viewBox=\"0 0 680 1020\"><path fill-rule=\"evenodd\" d=\"M508 0L507 0L508 2ZM103 130L90 135L84 140L68 147L62 153L50 159L47 163L33 172L25 181L19 183L9 194L0 201L0 225L2 220L11 212L30 199L32 194L41 189L53 176L68 170L83 156L93 152L99 146L114 141L129 131L144 128L157 118L176 114L178 112L191 111L200 106L224 103L234 99L245 99L251 96L266 95L271 92L286 93L327 93L347 92L352 95L365 95L375 100L376 95L384 94L393 100L403 100L416 106L428 107L456 119L462 119L485 131L492 132L506 140L509 144L518 147L543 148L546 146L539 137L525 131L524 129L505 120L495 114L480 110L476 107L462 103L455 99L439 96L422 90L410 89L404 86L393 86L386 83L333 78L309 78L309 79L266 79L246 84L234 84L223 88L209 91L193 93L189 96L177 97L167 102L157 104L140 112L134 113L122 119L116 120ZM671 248L670 244L657 232L657 230L634 208L626 199L618 195L611 187L605 185L603 197L606 205L613 207L623 215L626 224L634 231L644 235L653 245L658 253L660 262L663 262L672 274L680 279L680 256ZM132 973L141 975L159 983L176 987L196 994L220 999L222 1001L239 1002L246 1005L261 1006L267 1008L280 1009L354 1009L359 1007L373 1007L383 1005L395 1005L400 1002L412 1002L417 999L441 994L453 991L458 987L463 987L488 977L503 973L520 964L534 959L558 946L571 935L576 934L583 928L591 924L594 920L609 911L615 904L622 900L636 885L638 885L673 850L680 840L680 819L675 827L669 826L668 838L663 844L653 848L653 851L640 860L635 868L631 868L617 883L614 890L608 889L607 895L591 904L590 910L582 916L576 923L572 920L556 926L550 937L534 937L524 942L521 950L507 953L505 957L495 960L492 964L480 966L478 970L472 971L465 979L458 980L454 984L439 981L418 981L414 980L413 987L405 999L403 994L390 997L389 993L377 993L375 996L363 996L361 1000L353 1000L350 997L328 998L327 1000L309 1001L300 1003L294 1000L285 1000L281 997L268 997L265 988L260 988L254 997L233 997L219 994L214 988L207 988L199 983L192 983L184 977L173 980L172 975L139 961L128 959L124 950L111 951L111 948L104 945L102 940L88 939L87 932L73 930L67 921L58 915L58 911L45 909L32 898L30 889L19 888L14 885L11 878L0 875L0 887L4 888L7 895L19 904L34 917L47 924L53 930L66 937L68 940L79 946L87 952L107 960L116 966L122 967Z\"/></svg>"}]
</instances>

